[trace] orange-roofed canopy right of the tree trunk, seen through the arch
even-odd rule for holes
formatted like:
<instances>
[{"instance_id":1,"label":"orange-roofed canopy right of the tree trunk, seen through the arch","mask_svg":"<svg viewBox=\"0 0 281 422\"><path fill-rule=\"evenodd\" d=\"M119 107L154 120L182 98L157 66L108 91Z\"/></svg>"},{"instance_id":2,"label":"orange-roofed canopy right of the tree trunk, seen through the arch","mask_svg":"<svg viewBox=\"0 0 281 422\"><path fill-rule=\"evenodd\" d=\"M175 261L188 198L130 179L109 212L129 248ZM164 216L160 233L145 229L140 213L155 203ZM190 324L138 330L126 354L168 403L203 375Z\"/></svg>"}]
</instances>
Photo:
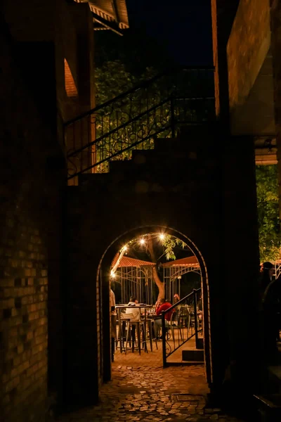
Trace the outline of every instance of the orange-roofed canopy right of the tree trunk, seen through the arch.
<instances>
[{"instance_id":1,"label":"orange-roofed canopy right of the tree trunk, seen through the arch","mask_svg":"<svg viewBox=\"0 0 281 422\"><path fill-rule=\"evenodd\" d=\"M181 258L181 260L165 262L163 268L163 281L165 283L166 298L172 300L174 294L181 296L181 277L188 272L195 272L201 275L200 264L197 257Z\"/></svg>"}]
</instances>

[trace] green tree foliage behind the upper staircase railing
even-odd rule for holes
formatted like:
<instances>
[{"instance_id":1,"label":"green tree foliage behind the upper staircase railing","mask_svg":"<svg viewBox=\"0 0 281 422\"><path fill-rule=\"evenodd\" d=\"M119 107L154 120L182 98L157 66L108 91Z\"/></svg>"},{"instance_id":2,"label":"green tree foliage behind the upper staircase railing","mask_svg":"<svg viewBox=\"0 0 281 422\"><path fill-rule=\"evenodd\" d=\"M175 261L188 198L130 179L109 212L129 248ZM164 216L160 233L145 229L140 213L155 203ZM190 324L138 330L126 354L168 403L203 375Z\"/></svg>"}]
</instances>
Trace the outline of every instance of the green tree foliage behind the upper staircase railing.
<instances>
[{"instance_id":1,"label":"green tree foliage behind the upper staircase railing","mask_svg":"<svg viewBox=\"0 0 281 422\"><path fill-rule=\"evenodd\" d=\"M142 65L138 63L139 58L145 56L144 51L150 51L151 45L148 43L144 47L143 43L133 43L141 51L126 49L126 42L123 44L125 40L131 46L128 34L124 39L112 39L112 44L107 44L107 47L112 47L117 43L117 49L100 49L98 54L95 72L96 106L112 101L101 106L93 115L96 172L108 172L110 160L130 160L133 149L153 148L155 138L171 136L172 123L173 129L177 130L181 127L181 122L207 120L207 116L213 113L212 101L204 104L185 101L185 96L193 98L198 92L209 92L212 87L212 78L205 81L198 79L197 70L185 72L177 69L166 72L165 75L160 72L162 76L148 86L133 89L126 96L116 99L119 94L148 81L158 75L159 70L163 70L163 63L156 65L161 60L152 60L153 54L147 60L143 59ZM123 53L119 54L120 51ZM171 67L171 63L169 66Z\"/></svg>"}]
</instances>

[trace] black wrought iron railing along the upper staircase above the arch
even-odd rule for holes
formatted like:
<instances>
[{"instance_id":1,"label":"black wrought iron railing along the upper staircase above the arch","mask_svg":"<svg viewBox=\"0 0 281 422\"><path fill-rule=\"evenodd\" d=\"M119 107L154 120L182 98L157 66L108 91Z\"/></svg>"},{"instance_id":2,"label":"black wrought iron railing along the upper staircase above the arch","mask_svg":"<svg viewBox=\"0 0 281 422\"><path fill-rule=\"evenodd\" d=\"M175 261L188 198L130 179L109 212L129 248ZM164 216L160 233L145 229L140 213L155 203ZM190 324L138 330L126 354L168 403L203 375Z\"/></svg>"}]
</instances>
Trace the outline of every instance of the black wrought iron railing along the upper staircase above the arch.
<instances>
[{"instance_id":1,"label":"black wrought iron railing along the upper staircase above the arch","mask_svg":"<svg viewBox=\"0 0 281 422\"><path fill-rule=\"evenodd\" d=\"M181 68L158 75L65 124L68 179L108 172L111 160L153 148L183 124L214 120L213 68Z\"/></svg>"}]
</instances>

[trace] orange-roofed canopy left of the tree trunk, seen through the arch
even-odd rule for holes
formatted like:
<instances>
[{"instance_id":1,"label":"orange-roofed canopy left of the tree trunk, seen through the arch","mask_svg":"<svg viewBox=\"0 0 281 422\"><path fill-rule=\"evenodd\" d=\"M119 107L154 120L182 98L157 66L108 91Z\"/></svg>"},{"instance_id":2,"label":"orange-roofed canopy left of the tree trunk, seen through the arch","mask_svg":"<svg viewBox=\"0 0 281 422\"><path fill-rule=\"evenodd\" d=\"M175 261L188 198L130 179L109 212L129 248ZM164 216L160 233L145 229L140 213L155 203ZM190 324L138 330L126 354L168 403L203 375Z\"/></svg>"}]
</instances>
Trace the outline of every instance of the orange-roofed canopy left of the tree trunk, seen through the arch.
<instances>
[{"instance_id":1,"label":"orange-roofed canopy left of the tree trunk, seen through the arch","mask_svg":"<svg viewBox=\"0 0 281 422\"><path fill-rule=\"evenodd\" d=\"M112 267L117 259L118 254L112 261ZM155 262L122 257L115 272L115 283L119 283L121 286L122 303L128 303L131 296L134 296L139 303L152 304L152 267L155 265Z\"/></svg>"}]
</instances>

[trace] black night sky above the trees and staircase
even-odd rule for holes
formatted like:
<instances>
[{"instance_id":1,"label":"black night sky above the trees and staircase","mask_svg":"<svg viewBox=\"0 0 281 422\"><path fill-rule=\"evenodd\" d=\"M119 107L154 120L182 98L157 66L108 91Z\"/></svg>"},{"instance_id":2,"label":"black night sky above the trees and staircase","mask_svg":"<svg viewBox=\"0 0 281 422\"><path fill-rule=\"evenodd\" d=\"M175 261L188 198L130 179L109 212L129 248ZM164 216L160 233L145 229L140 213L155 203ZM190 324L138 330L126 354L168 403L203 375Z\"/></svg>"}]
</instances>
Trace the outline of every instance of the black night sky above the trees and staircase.
<instances>
[{"instance_id":1,"label":"black night sky above the trees and staircase","mask_svg":"<svg viewBox=\"0 0 281 422\"><path fill-rule=\"evenodd\" d=\"M182 65L212 65L211 0L127 0L129 25L164 45Z\"/></svg>"}]
</instances>

